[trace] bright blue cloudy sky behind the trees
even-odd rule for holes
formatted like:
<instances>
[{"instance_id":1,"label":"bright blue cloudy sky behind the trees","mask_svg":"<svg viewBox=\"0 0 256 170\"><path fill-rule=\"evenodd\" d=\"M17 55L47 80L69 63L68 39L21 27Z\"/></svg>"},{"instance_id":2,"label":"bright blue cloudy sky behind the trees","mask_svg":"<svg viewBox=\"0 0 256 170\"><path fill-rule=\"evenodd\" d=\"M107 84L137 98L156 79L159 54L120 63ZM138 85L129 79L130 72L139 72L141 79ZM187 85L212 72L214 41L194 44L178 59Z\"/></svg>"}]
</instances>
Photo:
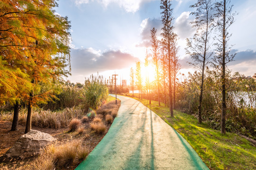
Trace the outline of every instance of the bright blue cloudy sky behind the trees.
<instances>
[{"instance_id":1,"label":"bright blue cloudy sky behind the trees","mask_svg":"<svg viewBox=\"0 0 256 170\"><path fill-rule=\"evenodd\" d=\"M186 55L186 38L195 29L190 22L196 0L172 0L174 31L179 36L180 73L193 72ZM91 74L108 78L114 73L129 83L130 68L137 61L144 63L146 49L150 52L150 30L161 32L160 0L59 0L56 13L71 21L71 74L73 83L84 83ZM235 61L228 63L232 72L246 76L256 73L256 0L231 0L235 23L230 26L229 44L237 53Z\"/></svg>"}]
</instances>

